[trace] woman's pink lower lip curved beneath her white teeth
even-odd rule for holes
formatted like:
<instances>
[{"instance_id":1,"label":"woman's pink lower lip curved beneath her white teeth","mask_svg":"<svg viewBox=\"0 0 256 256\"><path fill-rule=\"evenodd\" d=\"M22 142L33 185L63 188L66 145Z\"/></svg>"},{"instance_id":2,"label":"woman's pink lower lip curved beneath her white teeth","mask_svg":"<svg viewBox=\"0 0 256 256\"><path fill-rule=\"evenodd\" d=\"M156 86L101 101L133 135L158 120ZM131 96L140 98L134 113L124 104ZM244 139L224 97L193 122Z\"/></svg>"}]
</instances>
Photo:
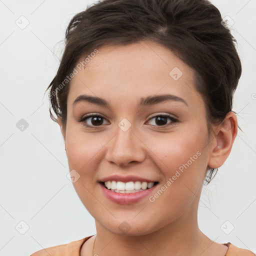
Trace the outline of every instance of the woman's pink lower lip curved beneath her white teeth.
<instances>
[{"instance_id":1,"label":"woman's pink lower lip curved beneath her white teeth","mask_svg":"<svg viewBox=\"0 0 256 256\"><path fill-rule=\"evenodd\" d=\"M158 184L158 183L157 183ZM105 194L105 196L116 203L120 203L120 204L127 204L127 203L134 203L137 202L139 200L141 200L142 198L148 196L157 186L154 185L148 189L145 189L143 191L139 191L139 192L134 192L134 193L116 193L111 191L110 189L107 189L103 186L103 184L99 183L103 193Z\"/></svg>"}]
</instances>

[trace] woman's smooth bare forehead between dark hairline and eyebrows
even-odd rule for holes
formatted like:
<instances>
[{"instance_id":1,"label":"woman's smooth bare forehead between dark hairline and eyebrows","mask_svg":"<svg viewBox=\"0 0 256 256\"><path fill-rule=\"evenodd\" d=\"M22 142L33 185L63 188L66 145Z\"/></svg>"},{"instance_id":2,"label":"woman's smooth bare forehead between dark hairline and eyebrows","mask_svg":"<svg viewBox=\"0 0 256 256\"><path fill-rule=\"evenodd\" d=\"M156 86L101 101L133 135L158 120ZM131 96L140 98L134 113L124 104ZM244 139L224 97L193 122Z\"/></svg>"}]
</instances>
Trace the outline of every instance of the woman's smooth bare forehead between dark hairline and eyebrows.
<instances>
[{"instance_id":1,"label":"woman's smooth bare forehead between dark hairline and eyebrows","mask_svg":"<svg viewBox=\"0 0 256 256\"><path fill-rule=\"evenodd\" d=\"M104 45L81 56L78 63L84 67L76 68L68 104L80 94L133 99L134 103L141 96L157 93L172 93L187 101L199 95L194 88L193 69L169 49L150 40Z\"/></svg>"}]
</instances>

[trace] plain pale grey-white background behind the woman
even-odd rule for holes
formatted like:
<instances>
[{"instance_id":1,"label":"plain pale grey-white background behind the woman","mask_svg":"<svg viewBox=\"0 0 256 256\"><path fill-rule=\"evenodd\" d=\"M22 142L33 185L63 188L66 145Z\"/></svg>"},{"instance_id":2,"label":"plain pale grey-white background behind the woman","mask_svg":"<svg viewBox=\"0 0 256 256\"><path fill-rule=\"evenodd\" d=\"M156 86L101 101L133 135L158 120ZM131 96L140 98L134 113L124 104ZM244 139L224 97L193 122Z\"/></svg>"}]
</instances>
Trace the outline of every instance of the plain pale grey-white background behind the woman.
<instances>
[{"instance_id":1,"label":"plain pale grey-white background behind the woman","mask_svg":"<svg viewBox=\"0 0 256 256\"><path fill-rule=\"evenodd\" d=\"M0 0L0 255L30 255L96 232L66 177L63 139L43 97L69 20L92 2ZM210 239L256 252L256 1L212 3L234 21L242 75L233 110L243 133L238 130L228 159L203 187L198 222ZM16 126L21 118L28 123L23 131Z\"/></svg>"}]
</instances>

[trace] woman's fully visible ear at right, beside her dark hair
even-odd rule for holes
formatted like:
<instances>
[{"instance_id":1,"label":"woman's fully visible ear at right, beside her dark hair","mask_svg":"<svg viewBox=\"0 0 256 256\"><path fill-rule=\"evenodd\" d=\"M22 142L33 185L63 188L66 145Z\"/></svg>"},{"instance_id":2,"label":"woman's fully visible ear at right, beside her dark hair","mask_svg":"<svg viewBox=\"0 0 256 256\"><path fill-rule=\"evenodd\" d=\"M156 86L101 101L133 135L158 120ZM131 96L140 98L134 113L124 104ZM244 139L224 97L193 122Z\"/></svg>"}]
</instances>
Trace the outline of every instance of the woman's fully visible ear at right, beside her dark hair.
<instances>
[{"instance_id":1,"label":"woman's fully visible ear at right, beside her dark hair","mask_svg":"<svg viewBox=\"0 0 256 256\"><path fill-rule=\"evenodd\" d=\"M218 168L224 163L231 151L236 134L237 118L235 113L230 111L215 130L208 161L210 168Z\"/></svg>"}]
</instances>

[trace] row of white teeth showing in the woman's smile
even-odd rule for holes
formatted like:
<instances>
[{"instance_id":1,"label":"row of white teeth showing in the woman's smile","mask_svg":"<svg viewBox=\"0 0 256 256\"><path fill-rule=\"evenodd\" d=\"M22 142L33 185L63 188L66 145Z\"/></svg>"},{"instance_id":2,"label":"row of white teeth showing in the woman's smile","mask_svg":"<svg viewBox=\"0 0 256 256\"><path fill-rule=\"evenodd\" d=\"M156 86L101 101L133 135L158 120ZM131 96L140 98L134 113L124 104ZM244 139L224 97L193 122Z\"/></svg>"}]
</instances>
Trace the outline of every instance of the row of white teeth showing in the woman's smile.
<instances>
[{"instance_id":1,"label":"row of white teeth showing in the woman's smile","mask_svg":"<svg viewBox=\"0 0 256 256\"><path fill-rule=\"evenodd\" d=\"M115 181L115 180L107 180L104 182L105 186L108 189L111 189L112 191L115 192L120 192L125 191L127 193L128 191L134 192L136 190L142 191L145 190L146 188L151 188L154 184L154 182L140 182L140 181L129 181L129 182L122 182L122 181Z\"/></svg>"}]
</instances>

